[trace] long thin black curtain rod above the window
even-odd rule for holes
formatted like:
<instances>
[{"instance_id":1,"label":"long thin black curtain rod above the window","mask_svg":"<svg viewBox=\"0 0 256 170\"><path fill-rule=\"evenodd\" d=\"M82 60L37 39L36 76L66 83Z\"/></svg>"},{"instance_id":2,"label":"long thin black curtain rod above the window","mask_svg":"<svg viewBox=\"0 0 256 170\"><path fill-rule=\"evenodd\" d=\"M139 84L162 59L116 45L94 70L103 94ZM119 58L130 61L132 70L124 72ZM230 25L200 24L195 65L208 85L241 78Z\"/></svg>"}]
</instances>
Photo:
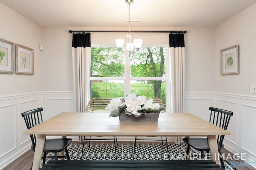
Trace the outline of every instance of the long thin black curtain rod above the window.
<instances>
[{"instance_id":1,"label":"long thin black curtain rod above the window","mask_svg":"<svg viewBox=\"0 0 256 170\"><path fill-rule=\"evenodd\" d=\"M187 31L130 31L131 33L187 33ZM72 31L69 33L128 33L128 31Z\"/></svg>"}]
</instances>

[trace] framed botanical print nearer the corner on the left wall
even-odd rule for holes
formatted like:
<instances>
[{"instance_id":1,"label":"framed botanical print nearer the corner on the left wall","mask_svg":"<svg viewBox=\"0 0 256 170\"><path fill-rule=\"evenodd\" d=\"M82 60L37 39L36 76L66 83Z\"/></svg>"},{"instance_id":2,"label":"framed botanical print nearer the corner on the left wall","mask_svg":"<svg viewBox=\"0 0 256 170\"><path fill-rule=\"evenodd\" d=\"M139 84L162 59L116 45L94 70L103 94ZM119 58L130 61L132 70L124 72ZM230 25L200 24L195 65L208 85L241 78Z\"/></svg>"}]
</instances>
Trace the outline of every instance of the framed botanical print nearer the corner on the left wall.
<instances>
[{"instance_id":1,"label":"framed botanical print nearer the corner on the left wall","mask_svg":"<svg viewBox=\"0 0 256 170\"><path fill-rule=\"evenodd\" d=\"M34 75L34 50L16 44L16 74Z\"/></svg>"}]
</instances>

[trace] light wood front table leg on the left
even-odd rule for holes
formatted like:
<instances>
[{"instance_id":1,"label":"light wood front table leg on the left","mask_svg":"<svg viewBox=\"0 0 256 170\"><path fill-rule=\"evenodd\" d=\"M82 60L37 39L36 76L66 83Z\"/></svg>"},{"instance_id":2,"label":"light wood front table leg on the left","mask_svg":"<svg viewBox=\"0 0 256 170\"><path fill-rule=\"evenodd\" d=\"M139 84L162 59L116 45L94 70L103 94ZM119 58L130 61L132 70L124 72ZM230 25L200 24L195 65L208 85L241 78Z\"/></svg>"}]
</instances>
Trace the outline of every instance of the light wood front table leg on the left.
<instances>
[{"instance_id":1,"label":"light wood front table leg on the left","mask_svg":"<svg viewBox=\"0 0 256 170\"><path fill-rule=\"evenodd\" d=\"M41 155L44 150L44 141L45 141L45 135L37 135L37 141L36 141L36 148L34 153L34 160L33 160L33 166L32 170L38 170L40 161L41 161Z\"/></svg>"}]
</instances>

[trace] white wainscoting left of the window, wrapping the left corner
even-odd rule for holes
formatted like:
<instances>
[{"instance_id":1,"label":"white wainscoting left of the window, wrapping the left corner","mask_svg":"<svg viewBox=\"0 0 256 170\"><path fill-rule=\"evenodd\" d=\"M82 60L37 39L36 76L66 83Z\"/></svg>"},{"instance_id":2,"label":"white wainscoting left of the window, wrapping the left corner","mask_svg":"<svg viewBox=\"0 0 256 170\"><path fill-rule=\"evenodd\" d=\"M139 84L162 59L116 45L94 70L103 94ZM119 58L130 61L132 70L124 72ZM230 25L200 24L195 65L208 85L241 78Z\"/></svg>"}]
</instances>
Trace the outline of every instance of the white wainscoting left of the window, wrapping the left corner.
<instances>
[{"instance_id":1,"label":"white wainscoting left of the window, wrapping the left corner","mask_svg":"<svg viewBox=\"0 0 256 170\"><path fill-rule=\"evenodd\" d=\"M29 135L23 135L27 128L21 117L22 112L38 107L43 107L43 117L52 117L51 113L62 111L73 112L73 98L73 92L30 92L0 96L0 169L31 147Z\"/></svg>"}]
</instances>

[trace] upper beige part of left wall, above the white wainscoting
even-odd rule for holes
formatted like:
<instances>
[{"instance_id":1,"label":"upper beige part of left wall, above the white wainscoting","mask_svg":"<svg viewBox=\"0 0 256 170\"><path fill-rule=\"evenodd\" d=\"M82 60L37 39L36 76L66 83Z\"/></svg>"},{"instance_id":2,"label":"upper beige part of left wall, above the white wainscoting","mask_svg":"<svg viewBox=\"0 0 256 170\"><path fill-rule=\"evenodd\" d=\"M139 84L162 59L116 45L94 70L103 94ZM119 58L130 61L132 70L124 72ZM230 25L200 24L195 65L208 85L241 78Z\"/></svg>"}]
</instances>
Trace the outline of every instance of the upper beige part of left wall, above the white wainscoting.
<instances>
[{"instance_id":1,"label":"upper beige part of left wall, above the white wainscoting","mask_svg":"<svg viewBox=\"0 0 256 170\"><path fill-rule=\"evenodd\" d=\"M0 74L0 96L40 90L41 28L0 3L0 38L34 49L34 75ZM32 83L34 82L34 83Z\"/></svg>"}]
</instances>

